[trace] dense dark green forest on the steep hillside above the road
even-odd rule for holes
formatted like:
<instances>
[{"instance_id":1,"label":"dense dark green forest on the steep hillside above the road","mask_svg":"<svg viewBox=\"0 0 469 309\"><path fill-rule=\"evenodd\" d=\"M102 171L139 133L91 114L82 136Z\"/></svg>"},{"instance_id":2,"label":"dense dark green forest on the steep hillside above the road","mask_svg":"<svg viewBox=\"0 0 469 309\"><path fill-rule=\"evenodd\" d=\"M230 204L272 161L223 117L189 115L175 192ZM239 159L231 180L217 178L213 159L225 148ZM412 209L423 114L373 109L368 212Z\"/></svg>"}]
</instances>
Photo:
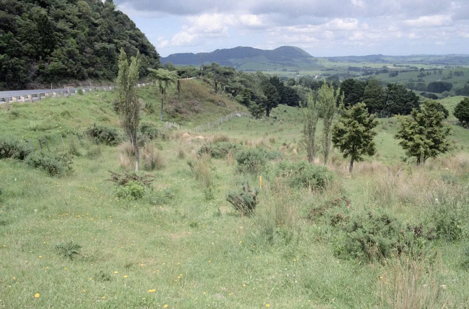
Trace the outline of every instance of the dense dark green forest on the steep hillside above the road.
<instances>
[{"instance_id":1,"label":"dense dark green forest on the steep hillside above the road","mask_svg":"<svg viewBox=\"0 0 469 309\"><path fill-rule=\"evenodd\" d=\"M0 90L113 80L119 50L140 52L140 75L159 54L112 0L1 0Z\"/></svg>"}]
</instances>

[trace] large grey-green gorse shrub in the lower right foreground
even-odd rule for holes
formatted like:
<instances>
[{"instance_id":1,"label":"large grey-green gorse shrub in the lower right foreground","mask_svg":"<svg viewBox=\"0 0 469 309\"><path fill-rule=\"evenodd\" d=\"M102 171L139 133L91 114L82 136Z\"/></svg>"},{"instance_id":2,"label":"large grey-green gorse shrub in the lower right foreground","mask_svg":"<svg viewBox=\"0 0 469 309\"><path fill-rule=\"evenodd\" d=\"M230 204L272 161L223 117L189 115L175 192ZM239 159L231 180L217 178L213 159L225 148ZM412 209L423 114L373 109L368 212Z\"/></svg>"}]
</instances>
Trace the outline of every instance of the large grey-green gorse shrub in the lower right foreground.
<instances>
[{"instance_id":1,"label":"large grey-green gorse shrub in the lower right foreground","mask_svg":"<svg viewBox=\"0 0 469 309\"><path fill-rule=\"evenodd\" d=\"M408 252L414 239L403 222L382 208L353 215L344 230L344 253L356 259L382 259Z\"/></svg>"}]
</instances>

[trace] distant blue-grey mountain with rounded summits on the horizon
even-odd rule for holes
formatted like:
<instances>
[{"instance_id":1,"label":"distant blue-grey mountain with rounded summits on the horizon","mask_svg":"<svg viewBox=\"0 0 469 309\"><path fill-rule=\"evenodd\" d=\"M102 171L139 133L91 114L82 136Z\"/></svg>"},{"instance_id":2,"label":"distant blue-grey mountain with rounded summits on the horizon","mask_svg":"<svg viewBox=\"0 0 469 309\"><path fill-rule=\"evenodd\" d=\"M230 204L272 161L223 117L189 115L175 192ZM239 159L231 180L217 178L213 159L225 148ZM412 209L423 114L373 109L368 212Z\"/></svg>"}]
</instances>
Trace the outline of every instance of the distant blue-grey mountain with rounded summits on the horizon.
<instances>
[{"instance_id":1,"label":"distant blue-grey mountain with rounded summits on the horizon","mask_svg":"<svg viewBox=\"0 0 469 309\"><path fill-rule=\"evenodd\" d=\"M174 53L160 58L162 64L200 65L201 56L204 64L218 62L224 66L233 66L240 70L259 70L266 68L304 68L318 62L316 58L295 46L281 46L273 50L238 46L217 49L211 53Z\"/></svg>"}]
</instances>

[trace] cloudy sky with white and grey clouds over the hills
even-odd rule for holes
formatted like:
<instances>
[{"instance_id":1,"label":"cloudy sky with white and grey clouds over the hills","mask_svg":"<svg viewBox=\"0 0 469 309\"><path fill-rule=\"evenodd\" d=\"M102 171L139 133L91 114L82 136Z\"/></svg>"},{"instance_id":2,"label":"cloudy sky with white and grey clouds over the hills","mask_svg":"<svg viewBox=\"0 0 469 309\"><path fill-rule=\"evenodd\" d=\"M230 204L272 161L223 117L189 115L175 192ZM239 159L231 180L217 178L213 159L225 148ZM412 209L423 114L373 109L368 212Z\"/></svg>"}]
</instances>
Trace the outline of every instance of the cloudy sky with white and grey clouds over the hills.
<instances>
[{"instance_id":1,"label":"cloudy sky with white and grey clouds over the hills","mask_svg":"<svg viewBox=\"0 0 469 309\"><path fill-rule=\"evenodd\" d=\"M313 56L469 54L469 0L114 0L161 56L282 45Z\"/></svg>"}]
</instances>

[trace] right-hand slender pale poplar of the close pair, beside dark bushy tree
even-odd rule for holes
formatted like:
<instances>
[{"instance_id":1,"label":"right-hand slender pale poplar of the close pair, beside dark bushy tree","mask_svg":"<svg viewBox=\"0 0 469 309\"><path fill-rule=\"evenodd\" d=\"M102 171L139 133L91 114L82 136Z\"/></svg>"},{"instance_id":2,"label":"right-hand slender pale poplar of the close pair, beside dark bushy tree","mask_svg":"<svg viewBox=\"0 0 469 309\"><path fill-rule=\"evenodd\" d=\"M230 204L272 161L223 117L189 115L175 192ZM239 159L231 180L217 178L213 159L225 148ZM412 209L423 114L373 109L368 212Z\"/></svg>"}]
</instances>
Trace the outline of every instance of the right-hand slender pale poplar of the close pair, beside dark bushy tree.
<instances>
[{"instance_id":1,"label":"right-hand slender pale poplar of the close pair, beside dark bushy tree","mask_svg":"<svg viewBox=\"0 0 469 309\"><path fill-rule=\"evenodd\" d=\"M339 95L340 89L337 90ZM318 106L323 112L323 153L324 153L324 164L327 163L327 158L329 157L329 150L331 148L331 128L334 116L337 113L337 102L342 106L344 101L343 95L340 98L337 98L334 95L334 86L331 84L329 86L327 83L324 83L321 88L318 90Z\"/></svg>"}]
</instances>

